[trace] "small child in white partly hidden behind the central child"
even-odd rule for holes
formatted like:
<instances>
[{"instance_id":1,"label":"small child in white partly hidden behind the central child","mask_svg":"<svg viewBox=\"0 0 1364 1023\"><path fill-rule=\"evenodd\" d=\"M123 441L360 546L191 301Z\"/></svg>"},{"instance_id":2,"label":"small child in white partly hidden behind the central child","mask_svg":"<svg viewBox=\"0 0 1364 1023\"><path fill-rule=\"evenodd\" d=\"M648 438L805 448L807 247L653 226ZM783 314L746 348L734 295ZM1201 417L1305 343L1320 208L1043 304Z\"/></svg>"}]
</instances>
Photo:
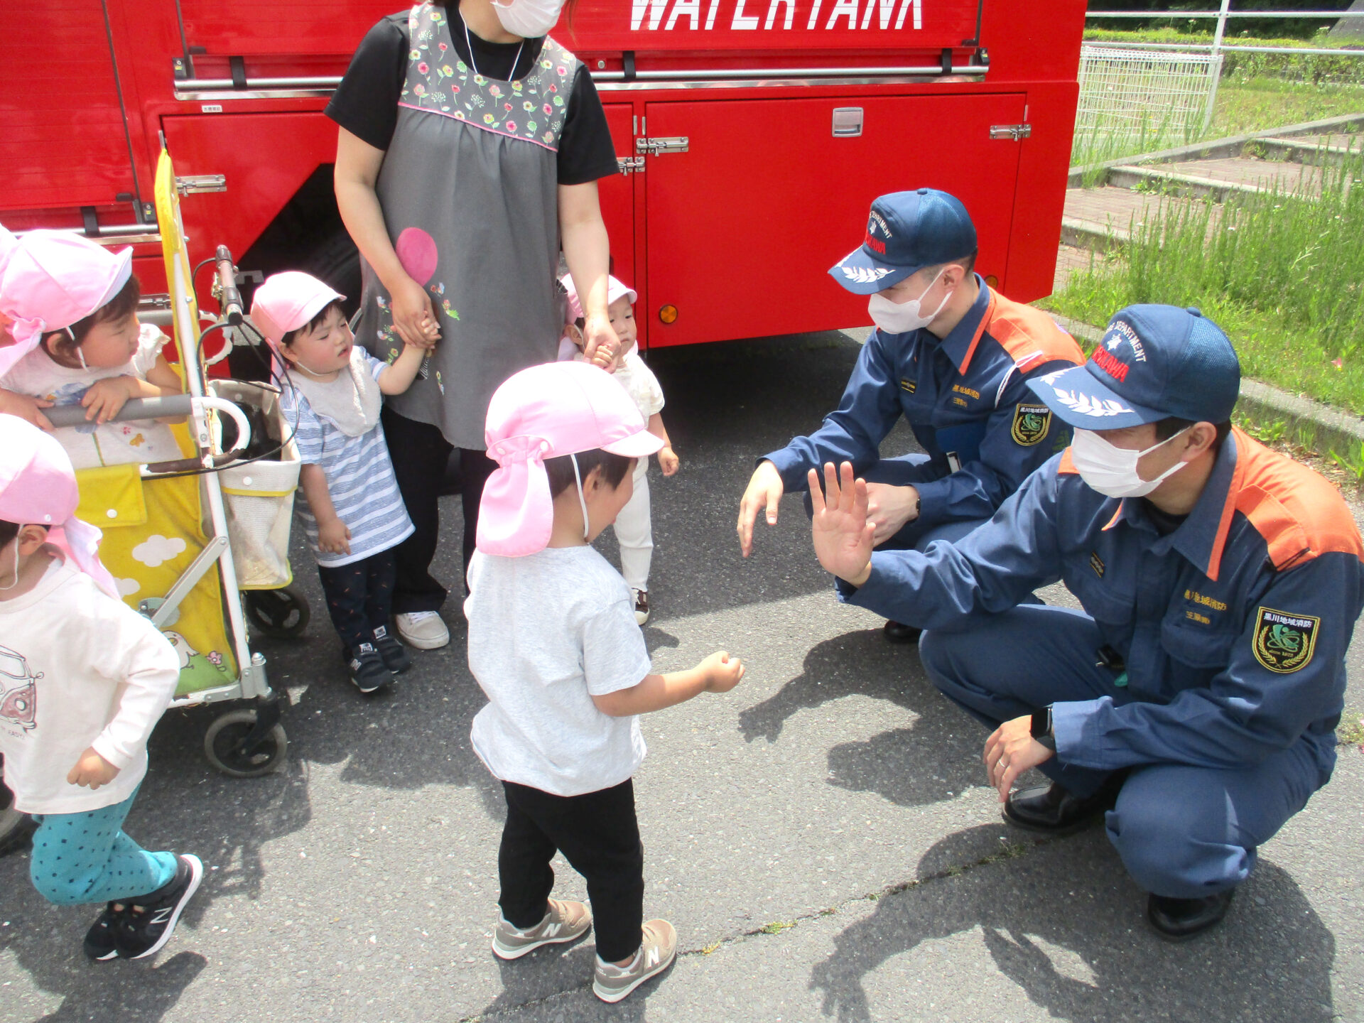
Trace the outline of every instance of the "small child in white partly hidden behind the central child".
<instances>
[{"instance_id":1,"label":"small child in white partly hidden behind the central child","mask_svg":"<svg viewBox=\"0 0 1364 1023\"><path fill-rule=\"evenodd\" d=\"M576 357L580 361L587 361L587 356L580 351L585 321L573 278L565 274L559 284L563 285L569 299L565 314L567 322L563 327L566 338L561 341L559 357ZM672 450L667 427L663 426L663 387L659 386L659 378L640 357L640 349L636 344L636 297L632 288L615 277L607 278L607 314L611 316L611 329L621 344L614 357L599 348L592 356L592 364L612 374L617 383L625 387L626 394L644 416L649 432L663 441L663 446L659 449L659 468L664 476L672 476L681 462L677 451ZM640 625L649 621L649 566L653 563L653 521L648 469L648 458L640 458L634 464L634 496L621 509L614 527L617 543L621 544L621 574L625 576L625 581L630 587L634 621Z\"/></svg>"}]
</instances>

